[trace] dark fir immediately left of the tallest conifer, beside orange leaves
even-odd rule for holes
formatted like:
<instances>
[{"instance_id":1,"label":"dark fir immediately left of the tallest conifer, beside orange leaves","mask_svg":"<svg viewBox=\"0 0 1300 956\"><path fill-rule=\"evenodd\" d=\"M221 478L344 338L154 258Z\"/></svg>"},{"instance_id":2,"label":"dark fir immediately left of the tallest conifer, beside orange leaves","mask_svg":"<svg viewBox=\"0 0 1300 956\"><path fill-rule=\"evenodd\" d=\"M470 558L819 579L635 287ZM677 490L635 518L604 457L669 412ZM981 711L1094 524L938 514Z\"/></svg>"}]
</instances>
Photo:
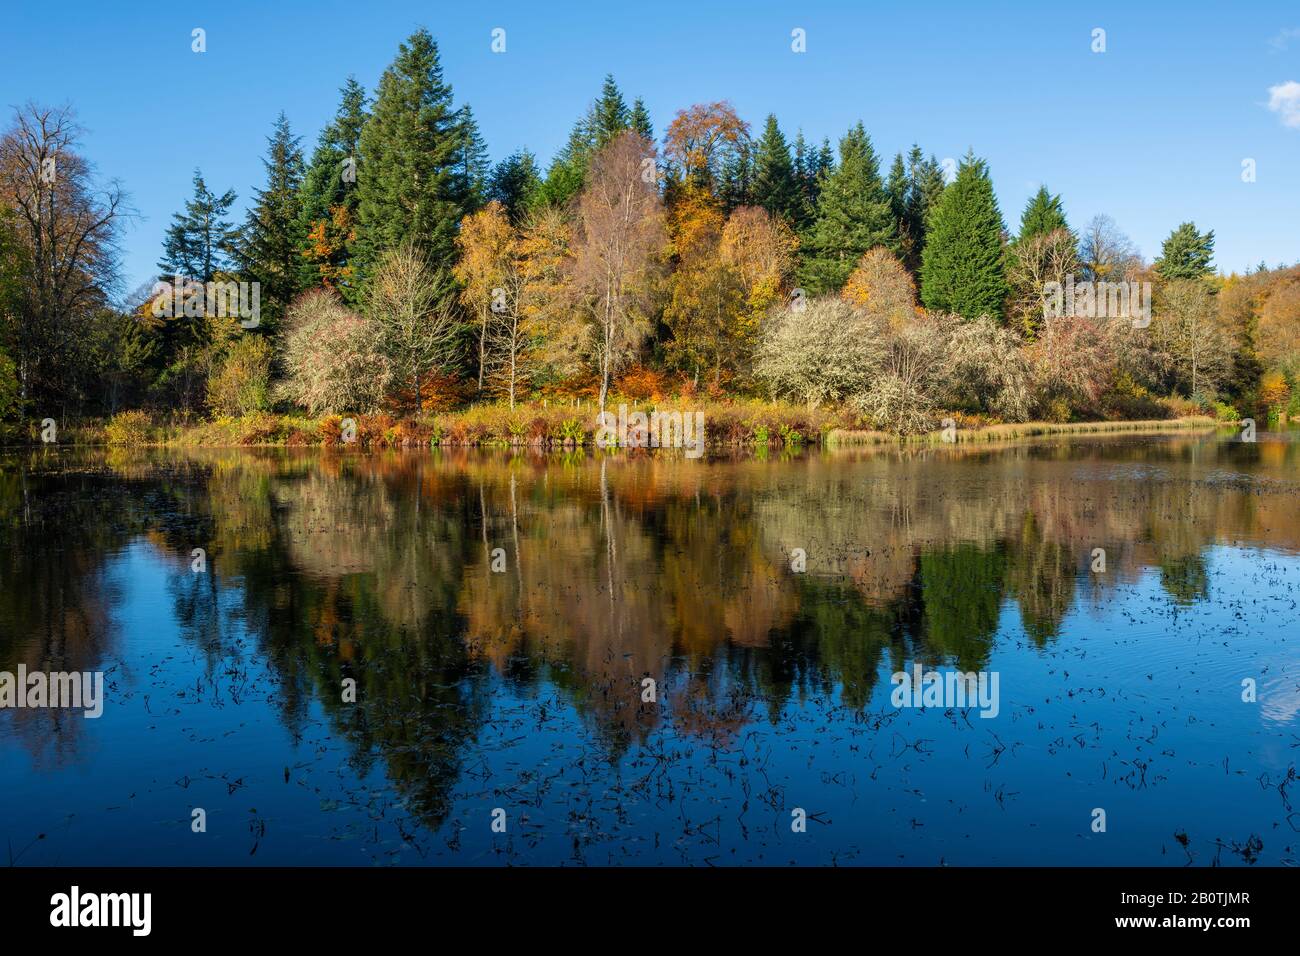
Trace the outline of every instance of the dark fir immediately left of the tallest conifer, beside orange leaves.
<instances>
[{"instance_id":1,"label":"dark fir immediately left of the tallest conifer, beside orange leaves","mask_svg":"<svg viewBox=\"0 0 1300 956\"><path fill-rule=\"evenodd\" d=\"M334 120L321 130L299 189L302 198L304 289L326 284L355 302L352 247L356 237L356 186L361 129L369 118L364 87L348 77L339 91Z\"/></svg>"}]
</instances>

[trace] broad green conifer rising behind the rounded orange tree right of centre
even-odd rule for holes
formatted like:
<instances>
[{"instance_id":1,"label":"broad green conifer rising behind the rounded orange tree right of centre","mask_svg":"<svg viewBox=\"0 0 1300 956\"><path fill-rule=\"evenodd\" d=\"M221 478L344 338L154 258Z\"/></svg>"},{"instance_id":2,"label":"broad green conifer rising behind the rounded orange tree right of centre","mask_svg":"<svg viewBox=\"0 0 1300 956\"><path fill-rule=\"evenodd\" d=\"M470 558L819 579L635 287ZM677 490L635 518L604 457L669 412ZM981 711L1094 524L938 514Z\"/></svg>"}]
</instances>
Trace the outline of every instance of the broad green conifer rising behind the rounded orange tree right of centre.
<instances>
[{"instance_id":1,"label":"broad green conifer rising behind the rounded orange tree right of centre","mask_svg":"<svg viewBox=\"0 0 1300 956\"><path fill-rule=\"evenodd\" d=\"M867 250L898 248L876 152L861 122L840 140L840 164L820 181L803 261L803 285L814 294L838 291Z\"/></svg>"}]
</instances>

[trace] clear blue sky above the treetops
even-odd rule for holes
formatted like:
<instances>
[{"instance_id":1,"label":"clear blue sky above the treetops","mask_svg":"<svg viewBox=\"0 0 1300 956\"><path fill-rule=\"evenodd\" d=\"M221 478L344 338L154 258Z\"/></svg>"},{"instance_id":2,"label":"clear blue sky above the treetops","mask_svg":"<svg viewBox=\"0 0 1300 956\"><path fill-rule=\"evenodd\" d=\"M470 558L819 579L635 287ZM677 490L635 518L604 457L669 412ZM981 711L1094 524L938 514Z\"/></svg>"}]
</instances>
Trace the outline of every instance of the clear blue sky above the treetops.
<instances>
[{"instance_id":1,"label":"clear blue sky above the treetops","mask_svg":"<svg viewBox=\"0 0 1300 956\"><path fill-rule=\"evenodd\" d=\"M309 156L347 74L373 91L419 26L494 160L528 146L549 163L612 72L629 101L645 98L656 134L676 109L716 99L755 130L774 112L786 135L816 140L861 118L884 164L914 140L940 159L974 147L1013 228L1041 182L1071 225L1109 213L1148 259L1190 219L1214 229L1222 271L1300 260L1295 3L70 0L12 4L4 21L0 104L72 103L86 155L133 195L127 287L153 278L196 165L242 209L276 113ZM203 55L194 27L207 30ZM494 27L504 55L490 49ZM790 51L794 27L806 53ZM1105 53L1091 51L1095 27Z\"/></svg>"}]
</instances>

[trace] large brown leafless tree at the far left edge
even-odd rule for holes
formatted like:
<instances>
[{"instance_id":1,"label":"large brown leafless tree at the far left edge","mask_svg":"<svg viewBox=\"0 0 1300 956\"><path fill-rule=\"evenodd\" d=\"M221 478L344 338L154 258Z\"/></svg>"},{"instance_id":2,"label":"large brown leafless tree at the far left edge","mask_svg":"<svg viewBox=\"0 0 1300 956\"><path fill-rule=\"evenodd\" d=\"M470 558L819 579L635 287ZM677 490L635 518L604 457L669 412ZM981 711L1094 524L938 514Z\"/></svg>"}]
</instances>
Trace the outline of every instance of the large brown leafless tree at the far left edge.
<instances>
[{"instance_id":1,"label":"large brown leafless tree at the far left edge","mask_svg":"<svg viewBox=\"0 0 1300 956\"><path fill-rule=\"evenodd\" d=\"M116 287L117 228L130 211L116 182L95 187L81 134L69 107L29 103L0 137L0 203L14 209L25 273L10 319L25 399L57 385L56 364Z\"/></svg>"}]
</instances>

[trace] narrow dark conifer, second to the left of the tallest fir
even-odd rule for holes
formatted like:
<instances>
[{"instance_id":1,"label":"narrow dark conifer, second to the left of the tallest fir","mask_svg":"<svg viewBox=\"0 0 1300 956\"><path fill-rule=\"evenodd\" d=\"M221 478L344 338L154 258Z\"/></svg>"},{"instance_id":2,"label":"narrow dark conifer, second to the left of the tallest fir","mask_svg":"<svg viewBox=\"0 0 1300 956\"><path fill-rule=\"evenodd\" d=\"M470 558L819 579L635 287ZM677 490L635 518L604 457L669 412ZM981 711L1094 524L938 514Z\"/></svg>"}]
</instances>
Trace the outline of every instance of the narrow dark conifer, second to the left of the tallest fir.
<instances>
[{"instance_id":1,"label":"narrow dark conifer, second to the left of the tallest fir","mask_svg":"<svg viewBox=\"0 0 1300 956\"><path fill-rule=\"evenodd\" d=\"M281 113L266 140L266 186L254 194L240 235L238 263L247 281L260 282L261 320L270 329L302 289L303 219L298 194L303 151Z\"/></svg>"}]
</instances>

